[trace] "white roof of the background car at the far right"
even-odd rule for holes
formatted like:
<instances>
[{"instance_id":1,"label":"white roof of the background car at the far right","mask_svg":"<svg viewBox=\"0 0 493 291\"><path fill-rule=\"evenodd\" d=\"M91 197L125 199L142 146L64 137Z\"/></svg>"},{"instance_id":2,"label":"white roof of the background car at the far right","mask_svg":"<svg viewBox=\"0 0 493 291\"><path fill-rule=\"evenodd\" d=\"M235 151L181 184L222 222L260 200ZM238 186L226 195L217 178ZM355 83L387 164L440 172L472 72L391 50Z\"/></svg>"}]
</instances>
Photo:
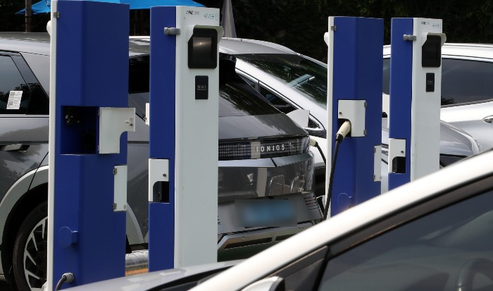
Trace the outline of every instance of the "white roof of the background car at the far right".
<instances>
[{"instance_id":1,"label":"white roof of the background car at the far right","mask_svg":"<svg viewBox=\"0 0 493 291\"><path fill-rule=\"evenodd\" d=\"M383 48L383 54L390 54L390 46ZM442 56L466 56L472 58L492 58L493 44L459 44L445 43L442 47Z\"/></svg>"}]
</instances>

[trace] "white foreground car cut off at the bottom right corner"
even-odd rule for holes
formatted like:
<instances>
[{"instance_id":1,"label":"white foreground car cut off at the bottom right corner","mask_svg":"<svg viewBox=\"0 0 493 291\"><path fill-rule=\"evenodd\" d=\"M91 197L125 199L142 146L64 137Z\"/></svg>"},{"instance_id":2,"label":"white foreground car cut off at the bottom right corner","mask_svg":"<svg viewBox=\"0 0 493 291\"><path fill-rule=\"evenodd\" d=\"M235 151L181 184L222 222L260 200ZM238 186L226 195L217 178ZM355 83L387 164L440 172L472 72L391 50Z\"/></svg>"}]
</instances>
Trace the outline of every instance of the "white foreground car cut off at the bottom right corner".
<instances>
[{"instance_id":1,"label":"white foreground car cut off at the bottom right corner","mask_svg":"<svg viewBox=\"0 0 493 291\"><path fill-rule=\"evenodd\" d=\"M463 159L186 286L147 285L154 272L73 290L493 290L492 163Z\"/></svg>"}]
</instances>

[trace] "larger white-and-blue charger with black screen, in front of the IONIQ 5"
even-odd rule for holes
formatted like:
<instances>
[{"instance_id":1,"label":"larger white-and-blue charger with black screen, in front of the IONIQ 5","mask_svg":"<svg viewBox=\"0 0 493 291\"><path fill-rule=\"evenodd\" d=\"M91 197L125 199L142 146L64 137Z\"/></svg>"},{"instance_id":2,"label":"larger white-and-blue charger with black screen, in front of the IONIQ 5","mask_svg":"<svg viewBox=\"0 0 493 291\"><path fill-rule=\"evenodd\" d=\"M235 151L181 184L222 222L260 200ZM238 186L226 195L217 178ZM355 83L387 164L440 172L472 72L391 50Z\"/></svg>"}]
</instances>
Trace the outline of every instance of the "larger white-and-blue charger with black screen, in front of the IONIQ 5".
<instances>
[{"instance_id":1,"label":"larger white-and-blue charger with black screen, in front of the IONIQ 5","mask_svg":"<svg viewBox=\"0 0 493 291\"><path fill-rule=\"evenodd\" d=\"M219 17L151 7L149 271L217 261Z\"/></svg>"}]
</instances>

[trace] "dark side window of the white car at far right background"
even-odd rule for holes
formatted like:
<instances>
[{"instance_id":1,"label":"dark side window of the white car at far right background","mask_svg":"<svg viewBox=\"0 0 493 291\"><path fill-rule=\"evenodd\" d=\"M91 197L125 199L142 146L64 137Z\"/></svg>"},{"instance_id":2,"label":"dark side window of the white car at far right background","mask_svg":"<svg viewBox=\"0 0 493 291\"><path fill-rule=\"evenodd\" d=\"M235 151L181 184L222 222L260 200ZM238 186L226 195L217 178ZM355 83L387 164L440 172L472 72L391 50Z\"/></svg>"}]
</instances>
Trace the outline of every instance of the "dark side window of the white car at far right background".
<instances>
[{"instance_id":1,"label":"dark side window of the white car at far right background","mask_svg":"<svg viewBox=\"0 0 493 291\"><path fill-rule=\"evenodd\" d=\"M442 105L493 99L493 63L444 58Z\"/></svg>"}]
</instances>

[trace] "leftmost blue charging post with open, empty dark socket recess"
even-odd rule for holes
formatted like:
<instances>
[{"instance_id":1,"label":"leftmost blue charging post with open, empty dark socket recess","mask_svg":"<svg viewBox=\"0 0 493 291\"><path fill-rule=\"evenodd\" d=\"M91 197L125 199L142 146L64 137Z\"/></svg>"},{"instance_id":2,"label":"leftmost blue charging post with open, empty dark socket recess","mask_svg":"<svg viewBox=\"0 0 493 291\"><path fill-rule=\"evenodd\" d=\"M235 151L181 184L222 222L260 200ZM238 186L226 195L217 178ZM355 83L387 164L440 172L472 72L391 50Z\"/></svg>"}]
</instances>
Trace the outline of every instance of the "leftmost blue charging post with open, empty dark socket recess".
<instances>
[{"instance_id":1,"label":"leftmost blue charging post with open, empty dark socket recess","mask_svg":"<svg viewBox=\"0 0 493 291\"><path fill-rule=\"evenodd\" d=\"M125 275L125 131L135 130L129 6L55 0L51 11L48 290L64 273L75 280L63 288Z\"/></svg>"}]
</instances>

